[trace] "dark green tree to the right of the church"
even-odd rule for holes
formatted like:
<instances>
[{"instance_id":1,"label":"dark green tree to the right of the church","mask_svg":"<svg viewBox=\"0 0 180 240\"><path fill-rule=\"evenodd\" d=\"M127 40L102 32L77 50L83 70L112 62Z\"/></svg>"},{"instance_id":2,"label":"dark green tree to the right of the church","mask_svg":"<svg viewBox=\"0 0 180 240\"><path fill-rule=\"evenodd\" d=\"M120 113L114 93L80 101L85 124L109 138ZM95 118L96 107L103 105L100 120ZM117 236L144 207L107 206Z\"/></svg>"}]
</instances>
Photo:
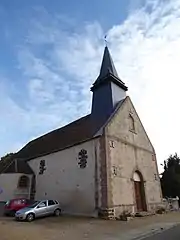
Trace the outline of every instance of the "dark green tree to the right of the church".
<instances>
[{"instance_id":1,"label":"dark green tree to the right of the church","mask_svg":"<svg viewBox=\"0 0 180 240\"><path fill-rule=\"evenodd\" d=\"M175 153L170 155L164 164L161 177L161 187L164 197L180 197L180 158Z\"/></svg>"}]
</instances>

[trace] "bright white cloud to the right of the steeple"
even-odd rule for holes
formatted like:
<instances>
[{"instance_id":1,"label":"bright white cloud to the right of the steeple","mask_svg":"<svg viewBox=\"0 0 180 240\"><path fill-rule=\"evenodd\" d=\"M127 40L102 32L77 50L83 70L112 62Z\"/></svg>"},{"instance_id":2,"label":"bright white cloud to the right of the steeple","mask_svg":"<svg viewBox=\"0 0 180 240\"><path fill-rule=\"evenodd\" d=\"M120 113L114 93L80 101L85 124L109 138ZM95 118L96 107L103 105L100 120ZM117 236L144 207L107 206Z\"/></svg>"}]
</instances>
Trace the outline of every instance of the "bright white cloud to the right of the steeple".
<instances>
[{"instance_id":1,"label":"bright white cloud to the right of the steeple","mask_svg":"<svg viewBox=\"0 0 180 240\"><path fill-rule=\"evenodd\" d=\"M159 162L179 148L179 25L180 1L147 1L109 31L120 76L128 83Z\"/></svg>"}]
</instances>

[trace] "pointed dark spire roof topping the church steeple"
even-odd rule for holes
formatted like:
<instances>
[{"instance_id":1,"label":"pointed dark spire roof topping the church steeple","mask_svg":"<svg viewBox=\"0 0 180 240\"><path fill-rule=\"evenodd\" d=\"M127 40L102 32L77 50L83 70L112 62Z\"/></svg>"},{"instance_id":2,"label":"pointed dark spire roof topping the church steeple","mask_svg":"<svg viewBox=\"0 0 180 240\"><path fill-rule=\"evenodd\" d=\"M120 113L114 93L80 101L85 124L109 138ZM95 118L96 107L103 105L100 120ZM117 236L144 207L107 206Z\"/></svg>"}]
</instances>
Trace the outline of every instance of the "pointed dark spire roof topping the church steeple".
<instances>
[{"instance_id":1,"label":"pointed dark spire roof topping the church steeple","mask_svg":"<svg viewBox=\"0 0 180 240\"><path fill-rule=\"evenodd\" d=\"M95 88L99 87L100 85L104 84L110 79L112 82L120 86L125 91L128 90L124 82L121 81L121 79L119 78L116 68L114 66L114 62L112 60L111 54L109 52L109 49L106 46L104 49L104 55L102 59L100 74L96 79L96 81L94 82L91 90L93 91Z\"/></svg>"}]
</instances>

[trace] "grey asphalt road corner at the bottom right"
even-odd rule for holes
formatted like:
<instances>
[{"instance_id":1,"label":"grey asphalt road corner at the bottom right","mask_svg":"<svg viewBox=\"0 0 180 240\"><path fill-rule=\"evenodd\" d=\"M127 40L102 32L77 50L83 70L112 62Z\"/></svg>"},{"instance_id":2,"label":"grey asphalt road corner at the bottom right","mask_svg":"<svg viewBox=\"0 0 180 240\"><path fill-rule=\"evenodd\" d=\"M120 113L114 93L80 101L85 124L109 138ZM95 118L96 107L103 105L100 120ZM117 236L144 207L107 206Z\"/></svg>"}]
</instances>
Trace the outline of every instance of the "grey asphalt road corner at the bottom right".
<instances>
[{"instance_id":1,"label":"grey asphalt road corner at the bottom right","mask_svg":"<svg viewBox=\"0 0 180 240\"><path fill-rule=\"evenodd\" d=\"M173 227L167 231L156 234L154 236L145 238L144 240L179 240L180 239L180 225Z\"/></svg>"}]
</instances>

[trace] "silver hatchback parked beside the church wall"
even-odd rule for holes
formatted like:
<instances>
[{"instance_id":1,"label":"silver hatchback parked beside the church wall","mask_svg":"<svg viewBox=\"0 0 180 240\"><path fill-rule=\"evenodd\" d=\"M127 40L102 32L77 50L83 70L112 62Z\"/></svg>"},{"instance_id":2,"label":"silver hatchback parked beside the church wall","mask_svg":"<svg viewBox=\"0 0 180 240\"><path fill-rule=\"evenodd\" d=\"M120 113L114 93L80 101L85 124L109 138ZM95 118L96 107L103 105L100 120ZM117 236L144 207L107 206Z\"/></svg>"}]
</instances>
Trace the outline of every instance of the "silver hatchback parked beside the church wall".
<instances>
[{"instance_id":1,"label":"silver hatchback parked beside the church wall","mask_svg":"<svg viewBox=\"0 0 180 240\"><path fill-rule=\"evenodd\" d=\"M33 205L23 208L16 212L16 220L33 221L35 218L45 216L60 216L61 208L59 202L56 200L42 200L36 201Z\"/></svg>"}]
</instances>

